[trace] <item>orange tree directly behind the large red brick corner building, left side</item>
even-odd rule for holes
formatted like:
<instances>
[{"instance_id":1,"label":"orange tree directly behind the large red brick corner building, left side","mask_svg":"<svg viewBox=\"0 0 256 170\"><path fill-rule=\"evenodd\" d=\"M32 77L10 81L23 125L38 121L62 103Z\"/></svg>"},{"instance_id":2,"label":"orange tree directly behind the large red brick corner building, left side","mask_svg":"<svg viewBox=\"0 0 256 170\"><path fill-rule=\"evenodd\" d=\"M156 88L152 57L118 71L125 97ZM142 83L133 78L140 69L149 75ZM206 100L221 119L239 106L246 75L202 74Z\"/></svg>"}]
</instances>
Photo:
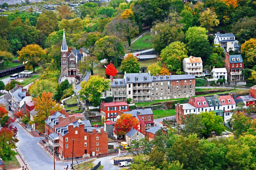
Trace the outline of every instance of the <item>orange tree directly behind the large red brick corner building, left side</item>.
<instances>
[{"instance_id":1,"label":"orange tree directly behind the large red brick corner building, left side","mask_svg":"<svg viewBox=\"0 0 256 170\"><path fill-rule=\"evenodd\" d=\"M50 115L50 110L59 111L62 109L60 104L56 103L56 100L52 99L53 93L43 92L42 96L35 97L33 99L35 105L35 111L38 113L37 116L33 116L33 121L30 121L30 124L40 124L44 126L44 117L48 117Z\"/></svg>"}]
</instances>

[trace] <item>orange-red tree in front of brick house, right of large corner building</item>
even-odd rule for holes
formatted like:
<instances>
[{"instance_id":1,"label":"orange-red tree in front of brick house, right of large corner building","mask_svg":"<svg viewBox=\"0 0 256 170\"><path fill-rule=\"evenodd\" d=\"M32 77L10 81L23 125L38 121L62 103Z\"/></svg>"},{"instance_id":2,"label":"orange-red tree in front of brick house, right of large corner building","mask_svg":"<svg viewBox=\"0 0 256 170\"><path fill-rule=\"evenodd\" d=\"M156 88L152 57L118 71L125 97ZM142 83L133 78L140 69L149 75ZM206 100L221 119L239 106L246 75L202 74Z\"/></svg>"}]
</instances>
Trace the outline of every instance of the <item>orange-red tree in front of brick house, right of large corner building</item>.
<instances>
[{"instance_id":1,"label":"orange-red tree in front of brick house, right of large corner building","mask_svg":"<svg viewBox=\"0 0 256 170\"><path fill-rule=\"evenodd\" d=\"M114 134L117 136L124 135L131 129L139 129L139 121L132 114L125 113L117 119L114 126Z\"/></svg>"}]
</instances>

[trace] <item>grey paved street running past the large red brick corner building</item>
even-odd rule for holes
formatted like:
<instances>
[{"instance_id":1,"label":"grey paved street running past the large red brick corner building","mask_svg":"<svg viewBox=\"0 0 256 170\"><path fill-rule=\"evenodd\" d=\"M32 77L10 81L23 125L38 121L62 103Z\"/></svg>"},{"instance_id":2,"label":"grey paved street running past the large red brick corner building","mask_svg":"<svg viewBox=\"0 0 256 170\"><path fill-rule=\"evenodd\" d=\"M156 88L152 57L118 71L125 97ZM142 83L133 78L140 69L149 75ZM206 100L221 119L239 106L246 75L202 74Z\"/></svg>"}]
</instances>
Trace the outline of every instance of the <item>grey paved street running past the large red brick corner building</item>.
<instances>
[{"instance_id":1,"label":"grey paved street running past the large red brick corner building","mask_svg":"<svg viewBox=\"0 0 256 170\"><path fill-rule=\"evenodd\" d=\"M17 122L15 122L14 125L18 128L17 136L19 142L16 146L21 151L22 157L24 157L25 161L28 163L30 167L29 170L53 170L53 158L38 144L40 138L31 136L28 131ZM64 167L55 162L55 170L63 169Z\"/></svg>"}]
</instances>

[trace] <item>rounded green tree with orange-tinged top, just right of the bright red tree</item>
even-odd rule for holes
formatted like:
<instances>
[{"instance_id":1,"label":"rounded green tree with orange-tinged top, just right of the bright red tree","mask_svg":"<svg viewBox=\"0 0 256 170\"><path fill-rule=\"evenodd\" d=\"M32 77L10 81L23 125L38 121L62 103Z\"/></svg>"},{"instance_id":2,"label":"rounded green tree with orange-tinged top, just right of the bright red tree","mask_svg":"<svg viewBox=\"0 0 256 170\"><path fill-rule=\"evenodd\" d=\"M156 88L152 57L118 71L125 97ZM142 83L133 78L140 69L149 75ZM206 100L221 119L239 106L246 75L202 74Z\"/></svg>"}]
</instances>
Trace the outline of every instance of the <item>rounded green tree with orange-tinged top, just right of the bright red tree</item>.
<instances>
[{"instance_id":1,"label":"rounded green tree with orange-tinged top, just right of the bright red tree","mask_svg":"<svg viewBox=\"0 0 256 170\"><path fill-rule=\"evenodd\" d=\"M121 70L122 72L126 71L126 73L138 73L140 64L138 59L136 59L136 56L133 56L131 53L125 56L121 63Z\"/></svg>"}]
</instances>

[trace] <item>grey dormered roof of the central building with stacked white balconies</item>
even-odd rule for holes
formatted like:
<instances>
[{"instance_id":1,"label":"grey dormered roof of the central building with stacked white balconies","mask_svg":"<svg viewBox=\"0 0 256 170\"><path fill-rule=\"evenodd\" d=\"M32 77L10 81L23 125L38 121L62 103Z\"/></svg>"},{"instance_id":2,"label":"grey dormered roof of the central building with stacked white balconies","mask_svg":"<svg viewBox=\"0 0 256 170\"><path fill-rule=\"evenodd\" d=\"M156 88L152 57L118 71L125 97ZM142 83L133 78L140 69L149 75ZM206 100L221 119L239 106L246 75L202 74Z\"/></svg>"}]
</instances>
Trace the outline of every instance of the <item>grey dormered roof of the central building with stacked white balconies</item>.
<instances>
[{"instance_id":1,"label":"grey dormered roof of the central building with stacked white balconies","mask_svg":"<svg viewBox=\"0 0 256 170\"><path fill-rule=\"evenodd\" d=\"M128 77L130 78L130 81L128 81ZM136 77L138 77L138 81L136 81ZM147 80L145 81L145 77L147 77ZM151 75L149 73L126 73L124 74L124 78L126 80L126 83L151 83Z\"/></svg>"}]
</instances>

